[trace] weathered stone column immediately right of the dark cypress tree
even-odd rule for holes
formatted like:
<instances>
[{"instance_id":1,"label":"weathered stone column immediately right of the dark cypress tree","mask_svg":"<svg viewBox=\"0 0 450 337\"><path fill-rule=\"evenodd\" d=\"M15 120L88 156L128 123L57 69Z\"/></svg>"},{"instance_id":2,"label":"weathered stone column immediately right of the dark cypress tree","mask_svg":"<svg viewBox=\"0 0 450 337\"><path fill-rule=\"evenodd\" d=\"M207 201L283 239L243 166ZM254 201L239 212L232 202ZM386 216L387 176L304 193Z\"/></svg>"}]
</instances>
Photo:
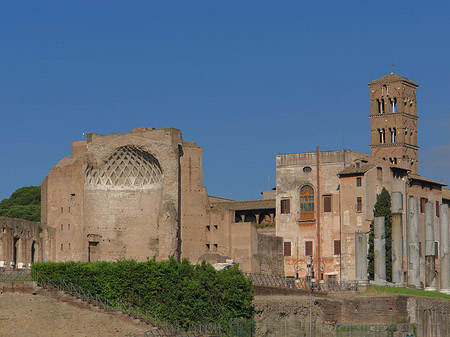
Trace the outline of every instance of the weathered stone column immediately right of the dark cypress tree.
<instances>
[{"instance_id":1,"label":"weathered stone column immediately right of the dark cypress tree","mask_svg":"<svg viewBox=\"0 0 450 337\"><path fill-rule=\"evenodd\" d=\"M392 212L392 282L403 284L403 226L402 226L402 194L392 192L391 212Z\"/></svg>"}]
</instances>

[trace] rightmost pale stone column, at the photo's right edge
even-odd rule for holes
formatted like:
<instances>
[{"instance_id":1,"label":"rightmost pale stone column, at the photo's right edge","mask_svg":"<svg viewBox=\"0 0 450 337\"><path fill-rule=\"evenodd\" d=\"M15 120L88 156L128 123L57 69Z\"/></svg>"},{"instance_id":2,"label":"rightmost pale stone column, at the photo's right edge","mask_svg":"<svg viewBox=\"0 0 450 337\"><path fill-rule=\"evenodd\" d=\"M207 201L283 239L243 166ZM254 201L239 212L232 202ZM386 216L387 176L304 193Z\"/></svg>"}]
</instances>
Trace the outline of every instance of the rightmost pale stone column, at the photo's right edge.
<instances>
[{"instance_id":1,"label":"rightmost pale stone column, at the photo's right edge","mask_svg":"<svg viewBox=\"0 0 450 337\"><path fill-rule=\"evenodd\" d=\"M439 209L440 234L441 234L441 293L450 294L450 243L449 243L449 224L448 224L448 205L442 204Z\"/></svg>"}]
</instances>

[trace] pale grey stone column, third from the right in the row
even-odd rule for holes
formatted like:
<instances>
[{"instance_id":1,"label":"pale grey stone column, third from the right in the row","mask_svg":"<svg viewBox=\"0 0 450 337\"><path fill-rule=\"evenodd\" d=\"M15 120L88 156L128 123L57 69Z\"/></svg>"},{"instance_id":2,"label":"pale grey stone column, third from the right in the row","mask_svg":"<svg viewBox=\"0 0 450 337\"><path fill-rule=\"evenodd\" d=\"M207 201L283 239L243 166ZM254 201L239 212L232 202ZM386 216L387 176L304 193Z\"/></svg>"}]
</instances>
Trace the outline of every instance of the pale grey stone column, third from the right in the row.
<instances>
[{"instance_id":1,"label":"pale grey stone column, third from the right in the row","mask_svg":"<svg viewBox=\"0 0 450 337\"><path fill-rule=\"evenodd\" d=\"M408 284L420 288L419 203L417 198L409 198L408 209Z\"/></svg>"}]
</instances>

